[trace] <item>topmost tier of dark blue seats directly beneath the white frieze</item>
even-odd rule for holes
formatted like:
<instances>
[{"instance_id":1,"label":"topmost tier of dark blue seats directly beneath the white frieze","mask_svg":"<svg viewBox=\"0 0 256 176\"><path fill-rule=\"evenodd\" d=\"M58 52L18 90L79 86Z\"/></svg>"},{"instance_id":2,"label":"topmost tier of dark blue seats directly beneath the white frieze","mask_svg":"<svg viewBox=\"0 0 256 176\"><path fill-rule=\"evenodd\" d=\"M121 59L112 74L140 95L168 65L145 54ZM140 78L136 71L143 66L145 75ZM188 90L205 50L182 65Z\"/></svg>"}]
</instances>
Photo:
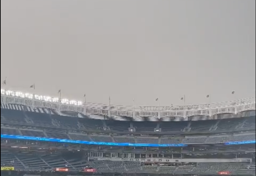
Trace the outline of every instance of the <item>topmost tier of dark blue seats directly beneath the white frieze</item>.
<instances>
[{"instance_id":1,"label":"topmost tier of dark blue seats directly beneath the white frieze","mask_svg":"<svg viewBox=\"0 0 256 176\"><path fill-rule=\"evenodd\" d=\"M102 118L104 119L104 118ZM159 129L165 133L202 132L202 131L227 131L237 129L255 129L254 117L233 118L222 120L202 121L178 121L178 122L132 122L76 118L45 113L24 112L17 110L1 109L1 122L12 122L16 124L34 124L45 127L61 127L78 130L110 130L113 132L128 132L133 127L137 132L154 132Z\"/></svg>"}]
</instances>

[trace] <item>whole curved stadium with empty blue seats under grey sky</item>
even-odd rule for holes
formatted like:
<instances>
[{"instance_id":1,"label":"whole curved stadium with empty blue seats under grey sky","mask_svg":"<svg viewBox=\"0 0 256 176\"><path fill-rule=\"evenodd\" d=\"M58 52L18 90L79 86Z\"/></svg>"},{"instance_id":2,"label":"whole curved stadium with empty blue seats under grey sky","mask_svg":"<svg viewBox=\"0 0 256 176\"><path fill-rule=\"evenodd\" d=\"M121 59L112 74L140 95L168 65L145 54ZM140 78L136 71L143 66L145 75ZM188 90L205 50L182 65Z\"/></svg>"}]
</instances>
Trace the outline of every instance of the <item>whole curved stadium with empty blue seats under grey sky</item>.
<instances>
[{"instance_id":1,"label":"whole curved stadium with empty blue seats under grey sky","mask_svg":"<svg viewBox=\"0 0 256 176\"><path fill-rule=\"evenodd\" d=\"M255 98L91 104L1 89L3 175L254 175Z\"/></svg>"}]
</instances>

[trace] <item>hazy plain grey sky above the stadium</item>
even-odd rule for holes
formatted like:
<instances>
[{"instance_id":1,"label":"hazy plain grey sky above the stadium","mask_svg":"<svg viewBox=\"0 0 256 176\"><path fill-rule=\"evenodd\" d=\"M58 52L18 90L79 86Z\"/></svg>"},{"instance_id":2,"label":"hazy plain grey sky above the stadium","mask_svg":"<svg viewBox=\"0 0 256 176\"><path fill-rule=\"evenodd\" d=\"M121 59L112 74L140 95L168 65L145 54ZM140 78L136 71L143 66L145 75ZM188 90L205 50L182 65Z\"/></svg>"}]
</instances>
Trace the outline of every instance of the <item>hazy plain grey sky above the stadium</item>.
<instances>
[{"instance_id":1,"label":"hazy plain grey sky above the stadium","mask_svg":"<svg viewBox=\"0 0 256 176\"><path fill-rule=\"evenodd\" d=\"M255 0L1 0L1 81L116 105L252 97L255 13Z\"/></svg>"}]
</instances>

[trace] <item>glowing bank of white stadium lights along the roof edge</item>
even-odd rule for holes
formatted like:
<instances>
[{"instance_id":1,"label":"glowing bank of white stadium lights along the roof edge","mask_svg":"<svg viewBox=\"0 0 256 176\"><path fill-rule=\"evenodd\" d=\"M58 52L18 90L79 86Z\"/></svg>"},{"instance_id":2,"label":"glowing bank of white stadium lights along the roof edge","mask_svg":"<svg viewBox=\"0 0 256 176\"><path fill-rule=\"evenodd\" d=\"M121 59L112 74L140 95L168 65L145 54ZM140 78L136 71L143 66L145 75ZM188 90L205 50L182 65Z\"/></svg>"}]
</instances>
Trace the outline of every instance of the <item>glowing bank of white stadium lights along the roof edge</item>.
<instances>
[{"instance_id":1,"label":"glowing bank of white stadium lights along the roof edge","mask_svg":"<svg viewBox=\"0 0 256 176\"><path fill-rule=\"evenodd\" d=\"M74 106L83 106L84 105L84 102L82 102L82 101L60 99L60 98L55 98L55 97L50 97L50 96L34 95L31 93L23 93L23 92L19 92L19 91L10 91L10 90L4 90L4 89L1 89L1 95L27 98L27 99L35 99L35 100L47 101L47 102L53 102L53 103L60 102L61 104L74 105Z\"/></svg>"}]
</instances>

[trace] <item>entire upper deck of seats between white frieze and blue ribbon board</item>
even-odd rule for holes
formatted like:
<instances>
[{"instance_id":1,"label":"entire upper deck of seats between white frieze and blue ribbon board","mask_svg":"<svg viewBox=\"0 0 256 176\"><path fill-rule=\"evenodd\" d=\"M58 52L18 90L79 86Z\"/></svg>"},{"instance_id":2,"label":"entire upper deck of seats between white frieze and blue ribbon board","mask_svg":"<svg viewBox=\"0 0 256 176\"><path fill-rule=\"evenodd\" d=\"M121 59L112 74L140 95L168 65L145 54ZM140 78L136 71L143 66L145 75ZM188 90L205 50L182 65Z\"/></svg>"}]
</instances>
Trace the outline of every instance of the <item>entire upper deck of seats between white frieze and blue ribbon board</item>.
<instances>
[{"instance_id":1,"label":"entire upper deck of seats between white frieze and blue ribbon board","mask_svg":"<svg viewBox=\"0 0 256 176\"><path fill-rule=\"evenodd\" d=\"M5 123L3 123L5 122ZM13 122L12 126L6 124ZM140 143L140 144L202 144L225 143L255 140L255 133L241 133L235 135L212 135L208 137L176 137L176 136L118 136L114 132L128 132L134 128L137 132L154 132L161 129L164 133L198 133L202 131L225 131L255 128L255 117L183 122L132 122L97 120L59 116L46 113L24 112L1 109L1 134L45 137L56 139L72 139L95 142ZM27 127L26 127L27 126ZM88 130L88 131L87 131ZM90 130L107 131L108 135L96 135ZM93 134L86 135L85 132ZM113 132L113 133L112 133ZM225 134L225 133L223 133Z\"/></svg>"}]
</instances>

